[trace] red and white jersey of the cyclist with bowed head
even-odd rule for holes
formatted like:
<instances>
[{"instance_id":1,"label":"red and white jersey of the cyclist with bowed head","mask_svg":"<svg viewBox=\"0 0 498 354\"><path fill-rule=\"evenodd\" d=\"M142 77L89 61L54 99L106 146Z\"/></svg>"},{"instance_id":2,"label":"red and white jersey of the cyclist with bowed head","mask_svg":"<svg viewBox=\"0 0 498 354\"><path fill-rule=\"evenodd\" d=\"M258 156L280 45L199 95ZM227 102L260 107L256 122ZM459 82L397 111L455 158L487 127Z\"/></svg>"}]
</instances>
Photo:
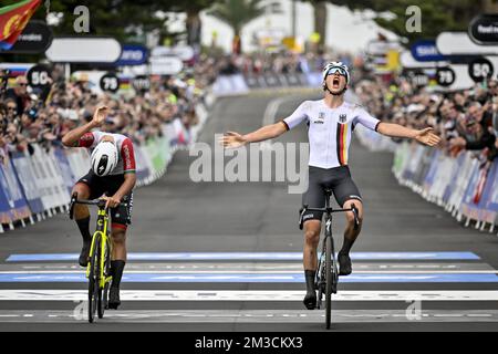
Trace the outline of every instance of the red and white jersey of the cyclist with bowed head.
<instances>
[{"instance_id":1,"label":"red and white jersey of the cyclist with bowed head","mask_svg":"<svg viewBox=\"0 0 498 354\"><path fill-rule=\"evenodd\" d=\"M97 144L106 135L111 135L114 138L114 144L116 145L117 153L120 156L116 167L111 171L110 175L123 175L135 173L136 164L135 164L135 152L133 149L133 142L122 134L90 132L84 134L80 138L77 146L86 147L91 152L93 152L95 146L97 146Z\"/></svg>"}]
</instances>

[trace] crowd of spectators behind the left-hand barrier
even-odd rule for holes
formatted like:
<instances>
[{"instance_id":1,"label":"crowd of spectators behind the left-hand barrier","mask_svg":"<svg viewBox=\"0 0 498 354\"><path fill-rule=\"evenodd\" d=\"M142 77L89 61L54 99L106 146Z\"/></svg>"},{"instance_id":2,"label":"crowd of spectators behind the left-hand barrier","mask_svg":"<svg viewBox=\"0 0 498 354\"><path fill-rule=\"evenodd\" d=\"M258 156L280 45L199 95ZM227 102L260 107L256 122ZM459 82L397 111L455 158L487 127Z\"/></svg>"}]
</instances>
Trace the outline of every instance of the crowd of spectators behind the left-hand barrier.
<instances>
[{"instance_id":1,"label":"crowd of spectators behind the left-hand barrier","mask_svg":"<svg viewBox=\"0 0 498 354\"><path fill-rule=\"evenodd\" d=\"M3 74L0 158L13 152L32 153L32 144L60 146L62 136L92 119L101 104L110 107L102 129L125 134L138 144L160 136L162 124L175 119L188 131L197 123L195 106L208 84L206 75L199 76L203 65L208 63L184 73L181 79L152 80L151 90L133 95L96 93L89 82L64 80L51 81L44 90L33 90L25 76L17 76L13 87L7 87L8 77Z\"/></svg>"}]
</instances>

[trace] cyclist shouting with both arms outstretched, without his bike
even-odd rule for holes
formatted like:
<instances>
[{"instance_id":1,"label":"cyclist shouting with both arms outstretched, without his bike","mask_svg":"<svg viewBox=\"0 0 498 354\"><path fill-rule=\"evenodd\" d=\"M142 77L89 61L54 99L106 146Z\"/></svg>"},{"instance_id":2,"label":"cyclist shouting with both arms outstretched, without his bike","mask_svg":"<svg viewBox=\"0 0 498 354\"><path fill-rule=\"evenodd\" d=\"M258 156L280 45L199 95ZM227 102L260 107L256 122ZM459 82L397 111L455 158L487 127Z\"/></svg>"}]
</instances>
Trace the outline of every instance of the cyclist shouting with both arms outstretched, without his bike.
<instances>
[{"instance_id":1,"label":"cyclist shouting with both arms outstretched, without his bike","mask_svg":"<svg viewBox=\"0 0 498 354\"><path fill-rule=\"evenodd\" d=\"M341 208L349 209L354 204L359 210L359 228L354 227L353 212L345 214L344 242L338 256L340 275L349 275L352 272L350 250L361 231L363 219L362 197L347 167L349 146L354 127L361 124L386 136L414 138L428 146L437 145L440 138L429 127L417 131L398 124L383 123L372 117L362 106L345 102L344 93L350 83L350 73L347 66L341 62L326 64L322 83L323 100L305 101L287 118L256 132L246 135L228 132L220 143L225 147L236 148L248 143L276 138L300 123L307 123L310 142L309 187L303 194L303 205L310 208L323 208L324 189L331 189ZM303 303L309 310L315 309L317 305L314 279L322 215L322 212L308 211L303 216L303 266L307 282Z\"/></svg>"}]
</instances>

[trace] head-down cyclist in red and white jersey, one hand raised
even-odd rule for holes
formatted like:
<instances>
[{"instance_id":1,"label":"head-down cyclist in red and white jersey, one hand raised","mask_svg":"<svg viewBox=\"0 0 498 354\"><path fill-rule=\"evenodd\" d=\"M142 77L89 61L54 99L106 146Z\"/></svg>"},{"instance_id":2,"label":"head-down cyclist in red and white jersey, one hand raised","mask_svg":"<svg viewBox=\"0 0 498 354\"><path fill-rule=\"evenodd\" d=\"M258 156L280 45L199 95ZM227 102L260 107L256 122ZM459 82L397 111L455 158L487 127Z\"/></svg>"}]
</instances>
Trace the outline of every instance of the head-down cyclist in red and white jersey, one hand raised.
<instances>
[{"instance_id":1,"label":"head-down cyclist in red and white jersey, one hand raised","mask_svg":"<svg viewBox=\"0 0 498 354\"><path fill-rule=\"evenodd\" d=\"M135 154L133 142L128 137L94 131L104 123L106 115L107 107L98 107L92 122L69 132L62 143L68 147L87 148L92 154L91 169L80 178L73 192L77 194L79 199L106 199L106 206L111 208L113 281L108 306L117 309L121 304L120 284L126 263L126 230L132 222L133 188L136 184ZM126 206L120 205L121 202ZM83 237L79 262L81 267L86 267L92 242L87 206L75 205L74 217Z\"/></svg>"}]
</instances>

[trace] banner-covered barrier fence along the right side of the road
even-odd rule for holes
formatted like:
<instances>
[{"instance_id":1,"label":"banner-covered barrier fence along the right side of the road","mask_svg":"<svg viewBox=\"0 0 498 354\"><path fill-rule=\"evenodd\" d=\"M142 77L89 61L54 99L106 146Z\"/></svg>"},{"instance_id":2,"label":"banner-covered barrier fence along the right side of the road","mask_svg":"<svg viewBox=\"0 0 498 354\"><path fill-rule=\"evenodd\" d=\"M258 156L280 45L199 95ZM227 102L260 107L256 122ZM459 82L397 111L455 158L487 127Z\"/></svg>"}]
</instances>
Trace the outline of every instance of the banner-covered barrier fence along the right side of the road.
<instances>
[{"instance_id":1,"label":"banner-covered barrier fence along the right side of the road","mask_svg":"<svg viewBox=\"0 0 498 354\"><path fill-rule=\"evenodd\" d=\"M394 153L393 174L426 200L444 207L468 227L494 232L498 222L498 164L463 150L457 157L414 142L391 138L359 126L356 136L373 150Z\"/></svg>"}]
</instances>

